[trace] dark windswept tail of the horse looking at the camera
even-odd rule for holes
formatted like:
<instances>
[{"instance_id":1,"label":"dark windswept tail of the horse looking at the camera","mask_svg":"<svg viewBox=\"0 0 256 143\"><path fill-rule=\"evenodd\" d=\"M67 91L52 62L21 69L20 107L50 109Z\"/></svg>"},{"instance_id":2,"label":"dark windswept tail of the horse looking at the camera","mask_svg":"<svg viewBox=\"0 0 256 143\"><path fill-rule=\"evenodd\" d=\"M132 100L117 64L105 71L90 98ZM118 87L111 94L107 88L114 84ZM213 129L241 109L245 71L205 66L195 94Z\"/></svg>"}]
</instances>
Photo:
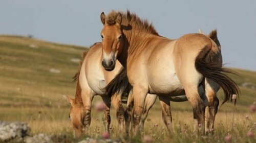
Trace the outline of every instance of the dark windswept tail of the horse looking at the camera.
<instances>
[{"instance_id":1,"label":"dark windswept tail of the horse looking at the camera","mask_svg":"<svg viewBox=\"0 0 256 143\"><path fill-rule=\"evenodd\" d=\"M212 31L208 36L218 46L220 45L216 30ZM220 52L218 54L220 54ZM223 68L222 66L216 64L213 59L214 56L216 56L216 52L212 51L212 47L205 46L196 57L195 67L204 77L216 82L221 86L224 91L224 99L222 102L222 104L224 104L227 101L232 101L233 94L236 94L237 96L240 94L240 89L237 83L229 78L226 74L238 74L234 73L234 71L231 69ZM234 99L234 104L236 104L236 99Z\"/></svg>"}]
</instances>

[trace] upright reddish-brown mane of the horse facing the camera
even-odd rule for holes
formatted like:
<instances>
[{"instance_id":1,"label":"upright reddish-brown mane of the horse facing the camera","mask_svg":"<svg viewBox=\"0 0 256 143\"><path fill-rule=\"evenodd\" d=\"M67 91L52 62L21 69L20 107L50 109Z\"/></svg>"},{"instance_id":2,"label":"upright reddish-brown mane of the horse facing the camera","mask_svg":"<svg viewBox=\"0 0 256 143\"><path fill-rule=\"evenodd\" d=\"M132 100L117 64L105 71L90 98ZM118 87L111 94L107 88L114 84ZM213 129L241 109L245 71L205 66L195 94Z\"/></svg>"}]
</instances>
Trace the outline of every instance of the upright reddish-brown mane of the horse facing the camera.
<instances>
[{"instance_id":1,"label":"upright reddish-brown mane of the horse facing the camera","mask_svg":"<svg viewBox=\"0 0 256 143\"><path fill-rule=\"evenodd\" d=\"M144 19L144 20L141 19L135 13L131 13L129 10L127 10L126 13L112 10L112 12L106 15L106 23L108 25L114 25L116 23L117 16L119 14L122 15L121 24L128 24L128 26L130 25L132 26L133 29L136 29L138 31L143 31L146 33L151 33L153 35L158 35L158 32L156 31L152 23L149 23L147 19Z\"/></svg>"}]
</instances>

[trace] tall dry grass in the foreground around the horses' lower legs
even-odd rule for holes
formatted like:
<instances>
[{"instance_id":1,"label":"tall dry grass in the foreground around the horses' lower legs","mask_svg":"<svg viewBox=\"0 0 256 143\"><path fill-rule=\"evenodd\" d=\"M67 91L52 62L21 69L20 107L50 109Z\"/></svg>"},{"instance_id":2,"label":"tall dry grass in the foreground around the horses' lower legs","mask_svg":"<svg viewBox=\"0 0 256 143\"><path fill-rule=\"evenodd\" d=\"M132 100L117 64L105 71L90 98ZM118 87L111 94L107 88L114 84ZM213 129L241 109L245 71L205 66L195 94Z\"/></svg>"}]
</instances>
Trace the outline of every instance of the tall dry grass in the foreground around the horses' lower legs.
<instances>
[{"instance_id":1,"label":"tall dry grass in the foreground around the horses' lower legs","mask_svg":"<svg viewBox=\"0 0 256 143\"><path fill-rule=\"evenodd\" d=\"M96 99L97 100L97 99ZM63 101L65 102L65 101ZM188 104L188 103L187 103ZM158 105L157 105L158 106ZM249 130L256 130L256 115L253 112L219 112L216 117L215 134L208 136L199 136L195 131L195 123L191 111L177 111L173 114L173 130L169 134L162 122L161 112L154 106L150 111L145 122L143 135L150 135L154 142L224 142L227 134L232 135L233 142L254 142L254 138L246 136ZM66 136L67 142L74 141L72 126L68 119L68 108L1 108L1 120L22 121L29 124L32 128L31 133L37 134L44 132L57 136ZM115 110L111 110L111 138L121 138L124 142L141 141L140 136L127 138L125 134L120 134L117 127ZM92 123L88 134L84 137L91 136L101 138L104 132L102 112L93 110ZM185 119L185 120L184 120ZM157 126L156 126L157 125Z\"/></svg>"}]
</instances>

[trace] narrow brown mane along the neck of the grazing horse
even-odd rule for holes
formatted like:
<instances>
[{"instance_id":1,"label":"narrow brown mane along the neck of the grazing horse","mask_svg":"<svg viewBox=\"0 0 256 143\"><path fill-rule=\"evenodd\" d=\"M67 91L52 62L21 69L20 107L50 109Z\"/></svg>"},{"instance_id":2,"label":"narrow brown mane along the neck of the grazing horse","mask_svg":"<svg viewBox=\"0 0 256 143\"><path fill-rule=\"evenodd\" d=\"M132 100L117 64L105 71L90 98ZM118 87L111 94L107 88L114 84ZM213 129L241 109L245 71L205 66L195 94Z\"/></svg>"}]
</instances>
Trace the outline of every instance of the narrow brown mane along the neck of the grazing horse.
<instances>
[{"instance_id":1,"label":"narrow brown mane along the neck of the grazing horse","mask_svg":"<svg viewBox=\"0 0 256 143\"><path fill-rule=\"evenodd\" d=\"M99 42L94 43L93 45L90 46L90 48L92 46L94 46L95 44L97 44L97 43L99 43ZM75 103L80 103L80 104L82 104L82 97L81 97L81 86L80 86L80 83L79 83L79 75L80 75L80 70L81 70L82 62L86 58L87 53L88 53L87 50L82 53L82 60L79 63L79 68L78 68L76 74L72 78L73 82L77 81L76 82Z\"/></svg>"}]
</instances>

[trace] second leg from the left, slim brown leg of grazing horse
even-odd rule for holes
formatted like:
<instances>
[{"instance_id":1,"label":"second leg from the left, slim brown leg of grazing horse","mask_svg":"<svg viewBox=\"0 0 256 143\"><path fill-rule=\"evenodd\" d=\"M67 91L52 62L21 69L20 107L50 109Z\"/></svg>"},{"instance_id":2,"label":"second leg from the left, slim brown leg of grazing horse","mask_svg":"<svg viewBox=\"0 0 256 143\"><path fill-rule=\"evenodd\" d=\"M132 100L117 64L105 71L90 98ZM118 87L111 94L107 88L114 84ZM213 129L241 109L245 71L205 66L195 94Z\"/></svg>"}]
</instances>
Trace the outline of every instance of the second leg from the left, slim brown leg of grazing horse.
<instances>
[{"instance_id":1,"label":"second leg from the left, slim brown leg of grazing horse","mask_svg":"<svg viewBox=\"0 0 256 143\"><path fill-rule=\"evenodd\" d=\"M110 132L110 123L111 123L111 118L110 118L111 100L108 96L102 96L102 100L105 104L102 121L103 121L103 124L105 127L105 131L109 133Z\"/></svg>"}]
</instances>

